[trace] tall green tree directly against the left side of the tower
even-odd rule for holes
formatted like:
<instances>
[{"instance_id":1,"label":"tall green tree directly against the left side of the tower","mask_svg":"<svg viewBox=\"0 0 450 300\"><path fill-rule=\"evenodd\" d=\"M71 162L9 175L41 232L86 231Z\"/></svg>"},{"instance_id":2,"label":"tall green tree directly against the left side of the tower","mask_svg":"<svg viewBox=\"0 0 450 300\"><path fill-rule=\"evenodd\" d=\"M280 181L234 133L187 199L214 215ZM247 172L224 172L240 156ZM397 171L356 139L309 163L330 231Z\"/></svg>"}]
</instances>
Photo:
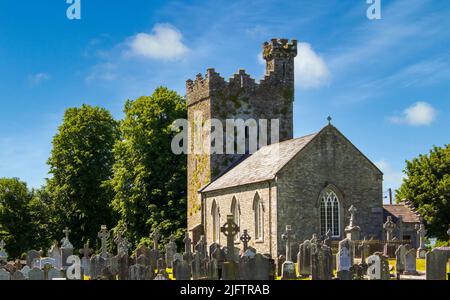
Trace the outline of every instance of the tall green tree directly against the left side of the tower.
<instances>
[{"instance_id":1,"label":"tall green tree directly against the left side of the tower","mask_svg":"<svg viewBox=\"0 0 450 300\"><path fill-rule=\"evenodd\" d=\"M165 238L181 238L186 227L186 156L171 151L171 125L186 118L186 102L160 87L149 97L127 101L124 112L111 180L117 228L126 226L135 244L155 229Z\"/></svg>"}]
</instances>

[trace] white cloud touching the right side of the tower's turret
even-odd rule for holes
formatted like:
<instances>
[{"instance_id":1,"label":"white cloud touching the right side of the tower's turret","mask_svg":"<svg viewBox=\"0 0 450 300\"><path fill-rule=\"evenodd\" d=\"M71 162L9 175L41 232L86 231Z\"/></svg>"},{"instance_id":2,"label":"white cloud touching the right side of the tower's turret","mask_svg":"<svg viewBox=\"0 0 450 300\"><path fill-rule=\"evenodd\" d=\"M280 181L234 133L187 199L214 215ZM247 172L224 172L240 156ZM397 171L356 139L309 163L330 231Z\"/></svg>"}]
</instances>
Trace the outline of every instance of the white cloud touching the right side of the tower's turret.
<instances>
[{"instance_id":1,"label":"white cloud touching the right side of the tower's turret","mask_svg":"<svg viewBox=\"0 0 450 300\"><path fill-rule=\"evenodd\" d=\"M324 61L308 43L298 44L295 59L295 80L300 88L311 89L323 86L330 79L330 71Z\"/></svg>"}]
</instances>

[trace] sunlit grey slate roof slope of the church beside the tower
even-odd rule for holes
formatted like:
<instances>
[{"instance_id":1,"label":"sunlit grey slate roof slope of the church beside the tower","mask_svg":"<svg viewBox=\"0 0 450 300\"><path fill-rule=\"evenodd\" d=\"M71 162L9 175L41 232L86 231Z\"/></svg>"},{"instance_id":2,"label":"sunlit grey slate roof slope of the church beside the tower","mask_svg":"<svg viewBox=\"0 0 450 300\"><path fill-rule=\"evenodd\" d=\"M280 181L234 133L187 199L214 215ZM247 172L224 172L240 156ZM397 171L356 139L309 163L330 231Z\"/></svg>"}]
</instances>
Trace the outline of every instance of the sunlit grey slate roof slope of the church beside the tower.
<instances>
[{"instance_id":1,"label":"sunlit grey slate roof slope of the church beside the tower","mask_svg":"<svg viewBox=\"0 0 450 300\"><path fill-rule=\"evenodd\" d=\"M210 192L272 180L278 171L308 145L317 134L313 133L301 138L262 147L200 191ZM277 154L277 151L279 151L279 154Z\"/></svg>"}]
</instances>

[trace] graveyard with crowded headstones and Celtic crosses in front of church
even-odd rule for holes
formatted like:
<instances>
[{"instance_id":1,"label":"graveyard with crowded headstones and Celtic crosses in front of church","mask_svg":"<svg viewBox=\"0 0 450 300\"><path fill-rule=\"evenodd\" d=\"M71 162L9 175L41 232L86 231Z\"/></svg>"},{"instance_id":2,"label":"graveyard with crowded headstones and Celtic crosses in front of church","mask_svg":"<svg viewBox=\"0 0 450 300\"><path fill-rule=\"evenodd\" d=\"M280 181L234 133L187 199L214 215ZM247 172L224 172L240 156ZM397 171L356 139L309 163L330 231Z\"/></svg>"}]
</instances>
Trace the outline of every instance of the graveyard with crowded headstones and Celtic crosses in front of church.
<instances>
[{"instance_id":1,"label":"graveyard with crowded headstones and Celtic crosses in front of church","mask_svg":"<svg viewBox=\"0 0 450 300\"><path fill-rule=\"evenodd\" d=\"M355 213L356 209L352 209ZM358 228L351 224L352 228ZM250 247L247 230L239 237L233 216L221 231L227 236L227 246L207 245L204 237L193 245L189 234L178 249L173 238L160 245L160 233L152 232L152 245L132 250L124 232L112 236L102 226L101 242L94 252L85 244L76 250L70 242L71 230L62 231L61 243L47 251L30 250L23 260L8 261L5 243L0 243L0 280L448 280L450 278L450 248L425 250L425 231L419 227L419 245L390 239L392 221L384 225L386 240L355 240L356 230L336 245L330 232L313 235L301 243L295 240L292 226L286 225L282 235L285 255L273 258L257 253ZM449 229L450 233L450 229ZM449 236L450 237L450 236ZM114 243L115 247L111 247ZM292 249L298 244L296 255ZM336 248L337 246L337 248ZM115 250L115 254L110 252ZM425 250L425 251L424 251Z\"/></svg>"}]
</instances>

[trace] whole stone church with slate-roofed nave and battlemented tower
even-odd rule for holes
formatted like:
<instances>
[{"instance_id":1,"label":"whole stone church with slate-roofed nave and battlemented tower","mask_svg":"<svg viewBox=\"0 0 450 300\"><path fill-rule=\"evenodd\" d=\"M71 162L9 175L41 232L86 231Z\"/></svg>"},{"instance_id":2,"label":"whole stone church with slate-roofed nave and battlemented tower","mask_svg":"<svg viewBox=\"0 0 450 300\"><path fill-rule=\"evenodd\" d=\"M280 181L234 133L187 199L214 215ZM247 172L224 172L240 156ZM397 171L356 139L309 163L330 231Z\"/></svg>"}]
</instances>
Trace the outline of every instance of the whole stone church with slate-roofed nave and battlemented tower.
<instances>
[{"instance_id":1,"label":"whole stone church with slate-roofed nave and battlemented tower","mask_svg":"<svg viewBox=\"0 0 450 300\"><path fill-rule=\"evenodd\" d=\"M205 235L208 245L226 245L220 227L233 215L240 234L247 230L252 237L250 246L276 257L284 251L286 225L297 241L327 231L342 239L352 205L361 236L381 239L382 172L331 122L293 138L296 55L296 40L272 39L263 45L266 72L259 82L244 70L226 81L214 69L187 81L190 124L201 112L222 122L278 119L280 132L279 142L269 140L253 154L188 154L188 230L194 243Z\"/></svg>"}]
</instances>

